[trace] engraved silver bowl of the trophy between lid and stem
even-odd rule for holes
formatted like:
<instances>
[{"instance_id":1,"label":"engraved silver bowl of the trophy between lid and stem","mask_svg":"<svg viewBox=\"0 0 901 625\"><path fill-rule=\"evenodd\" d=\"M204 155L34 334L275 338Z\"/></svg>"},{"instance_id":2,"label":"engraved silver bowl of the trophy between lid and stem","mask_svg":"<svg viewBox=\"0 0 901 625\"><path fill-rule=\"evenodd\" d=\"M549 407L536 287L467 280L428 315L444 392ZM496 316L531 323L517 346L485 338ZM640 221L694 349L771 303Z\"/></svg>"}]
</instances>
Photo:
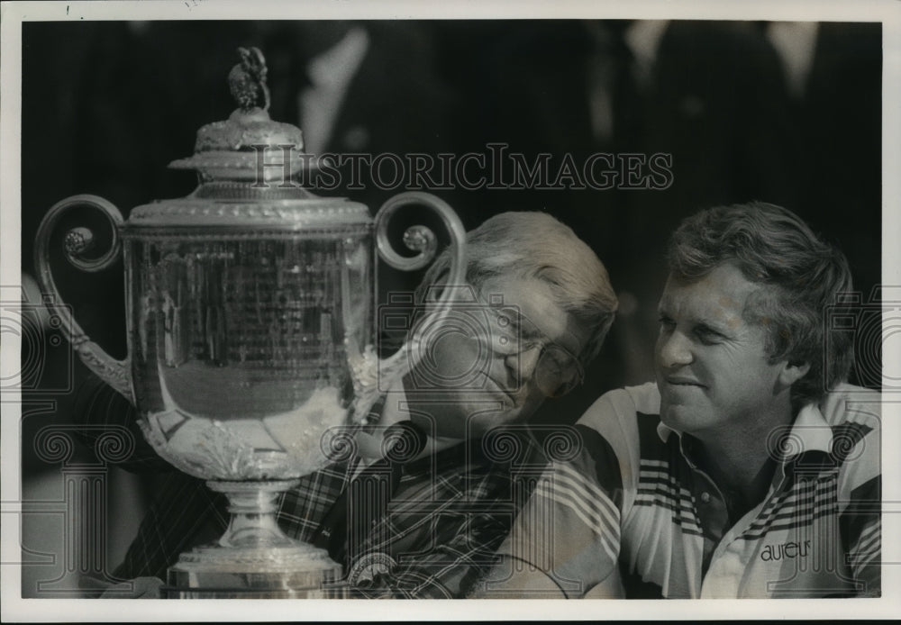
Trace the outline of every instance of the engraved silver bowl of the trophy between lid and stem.
<instances>
[{"instance_id":1,"label":"engraved silver bowl of the trophy between lid and stem","mask_svg":"<svg viewBox=\"0 0 901 625\"><path fill-rule=\"evenodd\" d=\"M259 465L242 479L282 476L271 455L302 454L290 464L308 471L325 461L305 438L340 424L353 399L346 351L372 342L372 279L352 260L370 248L369 235L133 244L134 389L167 456L184 462L196 430L228 421L241 440L223 454L250 445Z\"/></svg>"}]
</instances>

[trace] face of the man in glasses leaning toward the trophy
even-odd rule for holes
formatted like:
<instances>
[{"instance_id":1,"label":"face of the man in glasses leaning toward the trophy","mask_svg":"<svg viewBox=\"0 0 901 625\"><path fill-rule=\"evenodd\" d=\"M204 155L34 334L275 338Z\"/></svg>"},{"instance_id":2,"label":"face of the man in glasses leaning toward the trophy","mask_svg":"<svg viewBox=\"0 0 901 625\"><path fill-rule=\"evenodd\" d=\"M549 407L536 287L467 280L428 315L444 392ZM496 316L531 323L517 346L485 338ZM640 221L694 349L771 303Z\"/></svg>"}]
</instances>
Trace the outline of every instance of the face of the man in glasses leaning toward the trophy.
<instances>
[{"instance_id":1,"label":"face of the man in glasses leaning toward the trophy","mask_svg":"<svg viewBox=\"0 0 901 625\"><path fill-rule=\"evenodd\" d=\"M425 335L420 370L428 369L428 379L406 385L414 421L458 439L523 421L545 399L549 380L578 376L566 352L578 355L588 334L542 280L490 278L479 303L458 304Z\"/></svg>"}]
</instances>

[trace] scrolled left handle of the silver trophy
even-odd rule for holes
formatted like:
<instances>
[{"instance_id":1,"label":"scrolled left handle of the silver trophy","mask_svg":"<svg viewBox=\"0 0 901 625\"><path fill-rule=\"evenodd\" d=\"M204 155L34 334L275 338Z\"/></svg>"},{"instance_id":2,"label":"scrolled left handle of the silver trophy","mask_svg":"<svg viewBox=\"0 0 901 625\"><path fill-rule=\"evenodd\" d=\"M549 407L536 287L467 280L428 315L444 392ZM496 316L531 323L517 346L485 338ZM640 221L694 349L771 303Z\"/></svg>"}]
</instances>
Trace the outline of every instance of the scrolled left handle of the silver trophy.
<instances>
[{"instance_id":1,"label":"scrolled left handle of the silver trophy","mask_svg":"<svg viewBox=\"0 0 901 625\"><path fill-rule=\"evenodd\" d=\"M54 204L50 212L41 221L38 229L34 249L34 266L37 268L38 282L44 292L50 294L45 305L50 312L59 317L60 330L76 349L78 357L85 366L93 371L108 385L112 386L127 400L134 403L132 394L132 379L129 374L129 360L116 360L104 349L90 340L81 329L78 322L72 317L68 307L60 305L62 297L59 295L56 283L53 280L53 272L50 269L50 234L56 227L59 218L76 206L90 206L104 213L113 227L113 241L110 249L100 258L86 258L84 252L91 249L94 234L87 228L73 228L66 233L65 250L68 262L73 266L87 272L96 272L109 267L119 256L122 246L119 240L119 227L123 224L122 213L119 213L113 204L96 195L71 195L65 200Z\"/></svg>"}]
</instances>

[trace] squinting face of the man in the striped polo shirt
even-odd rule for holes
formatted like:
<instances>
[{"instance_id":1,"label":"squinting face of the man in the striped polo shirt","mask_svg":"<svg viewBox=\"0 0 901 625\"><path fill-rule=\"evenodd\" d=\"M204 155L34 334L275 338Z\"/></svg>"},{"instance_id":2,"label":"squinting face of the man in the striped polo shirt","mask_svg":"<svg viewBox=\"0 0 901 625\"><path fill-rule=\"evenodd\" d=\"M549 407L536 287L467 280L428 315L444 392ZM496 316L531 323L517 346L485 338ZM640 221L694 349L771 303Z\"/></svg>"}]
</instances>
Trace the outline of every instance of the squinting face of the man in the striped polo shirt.
<instances>
[{"instance_id":1,"label":"squinting face of the man in the striped polo shirt","mask_svg":"<svg viewBox=\"0 0 901 625\"><path fill-rule=\"evenodd\" d=\"M760 288L728 263L693 283L669 276L656 349L666 425L702 440L736 436L772 409L784 363L769 362L764 328L742 315Z\"/></svg>"}]
</instances>

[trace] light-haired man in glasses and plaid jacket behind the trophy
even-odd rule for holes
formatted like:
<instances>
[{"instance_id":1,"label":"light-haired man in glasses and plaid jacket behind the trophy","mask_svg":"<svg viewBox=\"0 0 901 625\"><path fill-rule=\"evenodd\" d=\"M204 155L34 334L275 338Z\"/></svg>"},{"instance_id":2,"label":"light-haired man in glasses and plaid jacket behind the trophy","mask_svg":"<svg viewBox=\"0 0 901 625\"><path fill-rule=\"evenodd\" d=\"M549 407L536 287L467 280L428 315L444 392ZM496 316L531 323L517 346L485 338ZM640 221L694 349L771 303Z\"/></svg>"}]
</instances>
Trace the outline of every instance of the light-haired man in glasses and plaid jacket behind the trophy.
<instances>
[{"instance_id":1,"label":"light-haired man in glasses and plaid jacket behind the trophy","mask_svg":"<svg viewBox=\"0 0 901 625\"><path fill-rule=\"evenodd\" d=\"M427 307L427 291L452 288L451 310L414 327L423 358L377 403L356 453L306 476L281 502L282 528L328 549L352 596L469 592L525 501L516 468L532 466L530 437L513 431L497 442L492 432L580 384L613 322L604 266L550 215L499 214L467 243L466 285L445 284L447 256L425 276L419 300ZM506 454L510 445L520 453ZM174 474L114 575L141 578L136 593L150 596L180 552L224 526L223 500Z\"/></svg>"}]
</instances>

